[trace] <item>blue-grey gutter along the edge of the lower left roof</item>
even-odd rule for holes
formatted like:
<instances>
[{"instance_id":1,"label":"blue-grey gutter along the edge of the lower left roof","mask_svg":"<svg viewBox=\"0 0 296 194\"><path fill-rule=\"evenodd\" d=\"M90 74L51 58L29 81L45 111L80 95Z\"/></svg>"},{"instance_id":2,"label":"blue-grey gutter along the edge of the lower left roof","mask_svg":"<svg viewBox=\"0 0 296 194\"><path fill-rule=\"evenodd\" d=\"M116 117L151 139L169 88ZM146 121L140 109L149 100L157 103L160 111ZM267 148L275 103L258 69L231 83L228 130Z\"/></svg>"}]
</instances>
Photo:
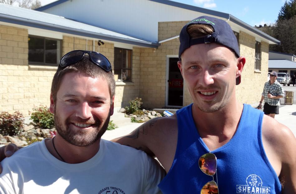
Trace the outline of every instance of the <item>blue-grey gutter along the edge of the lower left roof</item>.
<instances>
[{"instance_id":1,"label":"blue-grey gutter along the edge of the lower left roof","mask_svg":"<svg viewBox=\"0 0 296 194\"><path fill-rule=\"evenodd\" d=\"M131 39L122 38L122 37L114 37L111 35L88 32L81 29L74 29L74 28L59 26L51 23L45 23L45 22L40 22L36 20L31 20L31 19L9 16L5 14L0 14L0 21L7 22L7 23L14 23L14 24L23 25L23 26L36 27L36 28L41 28L41 29L51 30L56 32L63 32L63 33L68 33L68 34L73 34L78 36L104 39L104 40L109 40L114 42L122 42L122 43L137 45L137 46L143 46L143 47L158 48L158 45L159 45L158 43L154 43L154 42L138 41L138 40L131 40Z\"/></svg>"}]
</instances>

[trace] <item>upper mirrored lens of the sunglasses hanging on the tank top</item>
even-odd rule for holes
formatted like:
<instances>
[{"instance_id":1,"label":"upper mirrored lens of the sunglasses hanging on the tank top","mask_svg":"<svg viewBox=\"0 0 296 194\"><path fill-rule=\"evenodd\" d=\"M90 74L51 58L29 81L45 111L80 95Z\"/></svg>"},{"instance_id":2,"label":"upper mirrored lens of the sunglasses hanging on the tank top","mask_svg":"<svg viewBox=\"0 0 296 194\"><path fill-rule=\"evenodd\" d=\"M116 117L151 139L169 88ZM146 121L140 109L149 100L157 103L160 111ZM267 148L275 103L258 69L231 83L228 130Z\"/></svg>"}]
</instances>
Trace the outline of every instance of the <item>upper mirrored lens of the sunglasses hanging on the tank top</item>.
<instances>
[{"instance_id":1,"label":"upper mirrored lens of the sunglasses hanging on the tank top","mask_svg":"<svg viewBox=\"0 0 296 194\"><path fill-rule=\"evenodd\" d=\"M212 153L203 154L198 161L198 166L205 174L213 176L217 169L217 159Z\"/></svg>"}]
</instances>

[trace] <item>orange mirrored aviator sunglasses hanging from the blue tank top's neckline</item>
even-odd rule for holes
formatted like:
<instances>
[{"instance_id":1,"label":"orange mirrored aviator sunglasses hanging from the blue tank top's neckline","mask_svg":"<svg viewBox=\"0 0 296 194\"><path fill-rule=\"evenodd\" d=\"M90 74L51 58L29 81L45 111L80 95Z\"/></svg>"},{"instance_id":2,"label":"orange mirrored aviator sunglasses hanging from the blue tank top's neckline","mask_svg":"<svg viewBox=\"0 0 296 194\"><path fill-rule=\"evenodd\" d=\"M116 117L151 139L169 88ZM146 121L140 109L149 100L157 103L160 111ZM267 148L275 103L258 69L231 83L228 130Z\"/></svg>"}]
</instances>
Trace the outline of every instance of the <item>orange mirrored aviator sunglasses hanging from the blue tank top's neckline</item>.
<instances>
[{"instance_id":1,"label":"orange mirrored aviator sunglasses hanging from the blue tank top's neckline","mask_svg":"<svg viewBox=\"0 0 296 194\"><path fill-rule=\"evenodd\" d=\"M212 181L207 182L203 186L203 188L200 191L200 194L208 194L208 193L219 194L218 184L214 181L214 175L217 172L217 158L216 158L215 154L212 154L212 153L203 154L199 158L198 166L203 173L213 177ZM217 174L216 174L216 178L217 178ZM217 182L218 182L218 180L217 180Z\"/></svg>"}]
</instances>

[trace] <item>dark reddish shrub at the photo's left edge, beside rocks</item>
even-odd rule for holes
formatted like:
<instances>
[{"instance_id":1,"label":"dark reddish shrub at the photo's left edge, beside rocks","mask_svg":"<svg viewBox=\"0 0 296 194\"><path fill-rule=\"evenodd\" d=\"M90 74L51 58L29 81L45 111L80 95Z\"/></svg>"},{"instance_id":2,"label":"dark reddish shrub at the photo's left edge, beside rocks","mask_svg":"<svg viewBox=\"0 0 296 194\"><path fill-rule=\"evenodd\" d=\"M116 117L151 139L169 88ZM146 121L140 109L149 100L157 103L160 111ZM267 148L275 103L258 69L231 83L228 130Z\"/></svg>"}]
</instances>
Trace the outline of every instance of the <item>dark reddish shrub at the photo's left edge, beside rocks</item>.
<instances>
[{"instance_id":1,"label":"dark reddish shrub at the photo's left edge, beside rocks","mask_svg":"<svg viewBox=\"0 0 296 194\"><path fill-rule=\"evenodd\" d=\"M13 114L2 112L0 114L0 134L3 136L13 136L20 134L24 128L24 117L16 111Z\"/></svg>"}]
</instances>

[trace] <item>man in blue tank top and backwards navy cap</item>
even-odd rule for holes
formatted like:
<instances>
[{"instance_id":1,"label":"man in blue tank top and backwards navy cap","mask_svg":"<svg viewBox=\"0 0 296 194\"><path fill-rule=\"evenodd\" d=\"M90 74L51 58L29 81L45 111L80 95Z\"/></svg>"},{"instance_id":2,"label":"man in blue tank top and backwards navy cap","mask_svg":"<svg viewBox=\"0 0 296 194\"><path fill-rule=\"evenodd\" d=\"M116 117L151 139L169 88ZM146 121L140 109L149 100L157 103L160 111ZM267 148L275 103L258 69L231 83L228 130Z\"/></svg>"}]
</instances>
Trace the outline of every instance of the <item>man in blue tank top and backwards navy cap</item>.
<instances>
[{"instance_id":1,"label":"man in blue tank top and backwards navy cap","mask_svg":"<svg viewBox=\"0 0 296 194\"><path fill-rule=\"evenodd\" d=\"M167 172L164 194L295 194L293 133L236 100L246 58L229 24L201 16L179 38L178 66L193 104L114 141L158 158Z\"/></svg>"}]
</instances>

